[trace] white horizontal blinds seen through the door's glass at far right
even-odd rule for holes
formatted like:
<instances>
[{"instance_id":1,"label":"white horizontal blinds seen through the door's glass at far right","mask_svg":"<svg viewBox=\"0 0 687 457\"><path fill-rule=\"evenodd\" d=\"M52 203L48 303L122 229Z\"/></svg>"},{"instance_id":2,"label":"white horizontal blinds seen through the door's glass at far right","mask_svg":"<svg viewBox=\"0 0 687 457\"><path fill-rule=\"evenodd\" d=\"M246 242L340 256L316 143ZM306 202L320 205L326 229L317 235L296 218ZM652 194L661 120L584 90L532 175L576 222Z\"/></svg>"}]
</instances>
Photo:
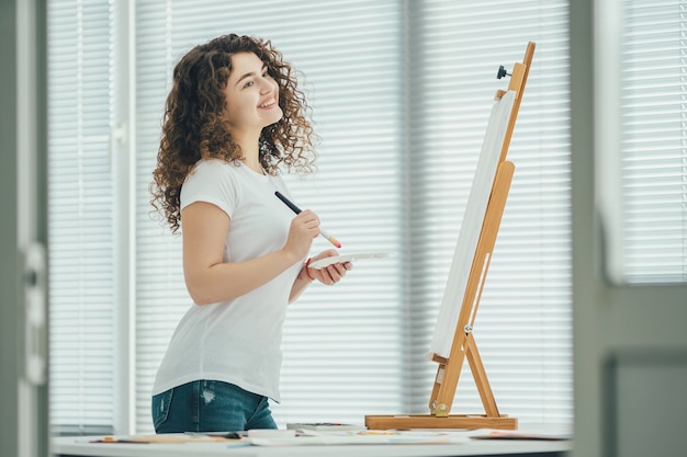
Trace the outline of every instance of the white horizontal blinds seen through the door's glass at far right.
<instances>
[{"instance_id":1,"label":"white horizontal blinds seen through the door's glass at far right","mask_svg":"<svg viewBox=\"0 0 687 457\"><path fill-rule=\"evenodd\" d=\"M678 0L623 3L620 167L626 279L685 282L687 7Z\"/></svg>"}]
</instances>

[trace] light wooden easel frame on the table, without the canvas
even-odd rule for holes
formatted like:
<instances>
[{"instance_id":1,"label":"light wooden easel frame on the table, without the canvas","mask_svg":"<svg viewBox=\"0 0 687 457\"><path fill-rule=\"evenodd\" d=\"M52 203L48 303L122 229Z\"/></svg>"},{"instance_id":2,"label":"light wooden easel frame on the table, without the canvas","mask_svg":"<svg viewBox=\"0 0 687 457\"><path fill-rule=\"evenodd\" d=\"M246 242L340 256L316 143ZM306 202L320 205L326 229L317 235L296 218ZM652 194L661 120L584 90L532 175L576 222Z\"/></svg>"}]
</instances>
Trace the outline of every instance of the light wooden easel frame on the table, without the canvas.
<instances>
[{"instance_id":1,"label":"light wooden easel frame on the table, without the canvas","mask_svg":"<svg viewBox=\"0 0 687 457\"><path fill-rule=\"evenodd\" d=\"M534 54L534 43L528 43L522 64L515 64L510 75L508 91L498 90L495 100L500 100L507 92L515 92L513 108L508 118L506 134L500 149L500 157L496 169L486 213L480 231L475 255L470 270L468 285L462 299L458 323L451 344L449 357L432 354L432 361L439 364L435 385L429 399L430 414L407 415L365 415L365 426L370 430L407 430L407 429L502 429L516 430L518 420L502 414L496 407L492 387L486 377L482 357L477 351L472 329L474 327L477 306L482 297L482 289L486 272L492 260L498 227L506 206L510 190L510 182L515 172L513 162L506 161L510 137L520 107L522 92L529 75ZM502 66L497 78L508 73ZM450 414L453 398L463 361L468 358L470 369L475 380L485 414Z\"/></svg>"}]
</instances>

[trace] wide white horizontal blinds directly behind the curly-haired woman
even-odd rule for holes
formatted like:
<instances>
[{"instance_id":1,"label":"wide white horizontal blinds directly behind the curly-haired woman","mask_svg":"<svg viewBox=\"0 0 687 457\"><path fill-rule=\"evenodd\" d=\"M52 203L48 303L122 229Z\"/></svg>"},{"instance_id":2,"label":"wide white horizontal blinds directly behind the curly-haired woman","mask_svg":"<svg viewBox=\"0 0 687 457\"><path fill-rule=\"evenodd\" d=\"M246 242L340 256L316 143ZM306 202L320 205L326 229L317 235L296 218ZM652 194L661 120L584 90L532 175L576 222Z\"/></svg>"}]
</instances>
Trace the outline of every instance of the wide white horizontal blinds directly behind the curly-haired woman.
<instances>
[{"instance_id":1,"label":"wide white horizontal blinds directly behind the curly-haired woman","mask_svg":"<svg viewBox=\"0 0 687 457\"><path fill-rule=\"evenodd\" d=\"M318 213L341 252L393 251L360 262L334 288L314 285L290 308L281 425L362 422L396 412L403 358L403 98L398 2L137 2L137 430L151 430L149 390L171 331L191 300L179 244L148 218L171 68L193 45L226 33L261 36L304 73L323 138L315 176L286 176L293 197ZM263 13L260 13L263 12ZM323 238L314 252L329 249ZM388 386L394 386L393 389Z\"/></svg>"}]
</instances>

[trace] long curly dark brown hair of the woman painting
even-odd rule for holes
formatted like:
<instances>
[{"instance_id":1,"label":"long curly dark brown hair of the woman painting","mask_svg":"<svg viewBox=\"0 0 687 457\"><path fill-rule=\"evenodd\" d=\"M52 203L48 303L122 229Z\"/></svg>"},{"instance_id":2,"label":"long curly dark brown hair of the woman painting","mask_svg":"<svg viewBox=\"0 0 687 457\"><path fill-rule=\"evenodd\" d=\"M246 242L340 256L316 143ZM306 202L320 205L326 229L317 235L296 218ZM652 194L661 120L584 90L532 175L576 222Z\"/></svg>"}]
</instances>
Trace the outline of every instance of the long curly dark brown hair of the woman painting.
<instances>
[{"instance_id":1,"label":"long curly dark brown hair of the woman painting","mask_svg":"<svg viewBox=\"0 0 687 457\"><path fill-rule=\"evenodd\" d=\"M181 185L201 159L238 163L244 159L224 119L224 89L232 71L232 55L254 53L279 85L283 116L262 129L260 163L270 174L280 167L299 173L314 170L316 158L309 107L297 88L295 71L271 42L236 34L195 46L174 67L167 96L157 167L150 184L154 213L164 212L172 233L180 227Z\"/></svg>"}]
</instances>

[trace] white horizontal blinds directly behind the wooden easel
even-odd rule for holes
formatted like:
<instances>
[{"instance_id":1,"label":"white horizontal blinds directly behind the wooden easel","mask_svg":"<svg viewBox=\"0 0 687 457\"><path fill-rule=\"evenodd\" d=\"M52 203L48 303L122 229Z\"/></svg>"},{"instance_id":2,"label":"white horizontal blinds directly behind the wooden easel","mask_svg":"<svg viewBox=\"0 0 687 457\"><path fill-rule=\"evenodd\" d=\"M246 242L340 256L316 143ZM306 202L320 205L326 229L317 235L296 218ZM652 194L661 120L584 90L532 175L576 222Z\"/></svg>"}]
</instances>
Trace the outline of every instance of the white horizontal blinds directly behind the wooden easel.
<instances>
[{"instance_id":1,"label":"white horizontal blinds directly behind the wooden easel","mask_svg":"<svg viewBox=\"0 0 687 457\"><path fill-rule=\"evenodd\" d=\"M429 347L499 65L537 50L508 160L515 178L474 335L497 404L520 423L572 422L567 4L410 2L412 332ZM416 9L416 11L415 11ZM419 91L418 91L419 88ZM460 306L458 304L457 306ZM436 364L414 359L414 409L427 412ZM465 364L466 366L468 364ZM484 412L468 369L454 413Z\"/></svg>"}]
</instances>

